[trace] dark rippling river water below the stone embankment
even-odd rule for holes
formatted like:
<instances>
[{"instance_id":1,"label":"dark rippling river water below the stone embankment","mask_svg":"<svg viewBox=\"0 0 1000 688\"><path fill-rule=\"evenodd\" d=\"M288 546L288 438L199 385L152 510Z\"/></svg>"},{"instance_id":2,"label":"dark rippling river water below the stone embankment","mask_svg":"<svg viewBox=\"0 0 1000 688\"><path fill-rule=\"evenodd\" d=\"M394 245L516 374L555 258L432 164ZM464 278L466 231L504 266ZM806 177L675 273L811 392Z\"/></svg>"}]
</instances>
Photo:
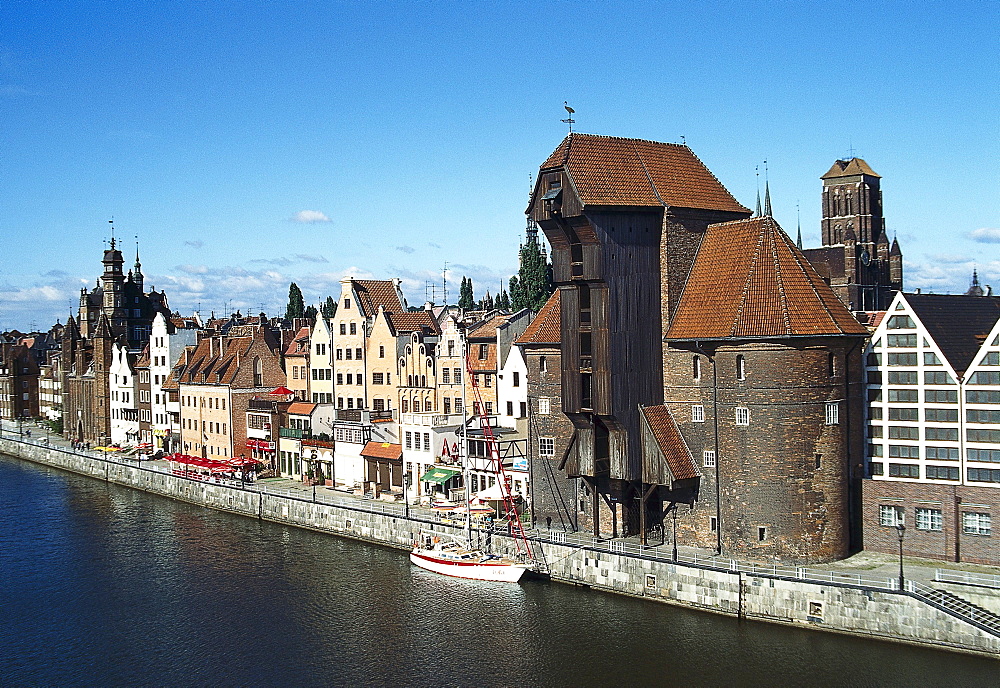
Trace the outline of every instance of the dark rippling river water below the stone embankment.
<instances>
[{"instance_id":1,"label":"dark rippling river water below the stone embankment","mask_svg":"<svg viewBox=\"0 0 1000 688\"><path fill-rule=\"evenodd\" d=\"M529 581L0 456L0 685L969 685L1000 662Z\"/></svg>"}]
</instances>

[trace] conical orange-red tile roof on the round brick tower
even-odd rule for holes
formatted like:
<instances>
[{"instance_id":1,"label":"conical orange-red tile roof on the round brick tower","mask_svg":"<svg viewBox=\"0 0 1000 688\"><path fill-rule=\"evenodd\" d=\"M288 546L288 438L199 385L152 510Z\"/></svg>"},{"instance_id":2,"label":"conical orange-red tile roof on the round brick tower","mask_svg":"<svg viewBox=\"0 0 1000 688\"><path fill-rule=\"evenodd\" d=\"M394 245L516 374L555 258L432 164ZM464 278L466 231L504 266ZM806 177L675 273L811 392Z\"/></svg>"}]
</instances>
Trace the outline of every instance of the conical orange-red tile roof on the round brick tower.
<instances>
[{"instance_id":1,"label":"conical orange-red tile roof on the round brick tower","mask_svg":"<svg viewBox=\"0 0 1000 688\"><path fill-rule=\"evenodd\" d=\"M710 225L667 339L866 335L770 217Z\"/></svg>"}]
</instances>

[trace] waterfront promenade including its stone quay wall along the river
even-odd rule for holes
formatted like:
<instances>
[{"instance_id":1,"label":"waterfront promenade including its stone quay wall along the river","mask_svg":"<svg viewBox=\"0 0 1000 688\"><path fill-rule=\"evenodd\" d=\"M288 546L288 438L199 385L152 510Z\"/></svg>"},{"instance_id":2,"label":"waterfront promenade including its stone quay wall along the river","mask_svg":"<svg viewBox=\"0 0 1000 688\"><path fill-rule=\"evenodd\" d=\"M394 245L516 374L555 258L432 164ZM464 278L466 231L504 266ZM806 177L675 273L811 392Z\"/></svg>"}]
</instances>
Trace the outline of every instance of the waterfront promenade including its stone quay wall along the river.
<instances>
[{"instance_id":1,"label":"waterfront promenade including its stone quay wall along the river","mask_svg":"<svg viewBox=\"0 0 1000 688\"><path fill-rule=\"evenodd\" d=\"M165 462L138 462L100 451L73 452L59 438L12 436L3 447L29 460L103 478L149 492L264 520L406 549L422 530L459 533L461 523L400 503L386 503L296 481L265 479L252 485L215 485L171 474ZM46 445L48 444L48 447ZM54 451L51 451L54 450ZM478 536L486 533L479 531ZM509 549L501 532L493 546ZM583 533L532 529L536 557L553 580L645 597L739 618L808 625L1000 656L1000 624L983 610L996 600L997 572L989 567L858 555L826 566L785 567L715 557L669 543L642 547L634 539L596 540ZM893 575L895 573L895 575ZM960 576L975 576L967 582ZM938 580L935 580L938 579ZM962 597L935 597L959 589ZM964 599L963 599L964 598ZM974 598L974 600L973 600ZM982 610L968 605L973 600Z\"/></svg>"}]
</instances>

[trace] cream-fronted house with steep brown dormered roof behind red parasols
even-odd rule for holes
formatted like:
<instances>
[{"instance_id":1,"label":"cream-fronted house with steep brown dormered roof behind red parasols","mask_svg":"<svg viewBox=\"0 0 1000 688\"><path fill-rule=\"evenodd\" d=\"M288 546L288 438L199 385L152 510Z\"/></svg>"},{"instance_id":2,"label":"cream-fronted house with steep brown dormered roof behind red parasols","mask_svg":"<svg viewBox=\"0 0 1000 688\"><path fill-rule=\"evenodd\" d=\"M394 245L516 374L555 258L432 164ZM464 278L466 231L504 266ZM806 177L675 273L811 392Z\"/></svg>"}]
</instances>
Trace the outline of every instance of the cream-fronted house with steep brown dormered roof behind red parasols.
<instances>
[{"instance_id":1,"label":"cream-fronted house with steep brown dormered roof behind red parasols","mask_svg":"<svg viewBox=\"0 0 1000 688\"><path fill-rule=\"evenodd\" d=\"M279 344L267 326L233 326L225 336L205 337L188 347L171 382L180 403L182 452L209 458L246 455L251 400L285 384ZM261 458L275 469L275 450Z\"/></svg>"}]
</instances>

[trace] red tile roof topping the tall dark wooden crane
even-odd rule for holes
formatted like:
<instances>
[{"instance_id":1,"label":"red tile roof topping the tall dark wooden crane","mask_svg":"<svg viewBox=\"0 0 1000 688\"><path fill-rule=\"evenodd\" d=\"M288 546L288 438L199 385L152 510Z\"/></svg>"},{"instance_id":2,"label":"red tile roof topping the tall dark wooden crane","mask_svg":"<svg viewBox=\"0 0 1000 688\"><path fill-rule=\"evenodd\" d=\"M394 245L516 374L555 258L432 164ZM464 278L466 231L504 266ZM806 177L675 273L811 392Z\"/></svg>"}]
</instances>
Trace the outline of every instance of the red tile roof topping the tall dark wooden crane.
<instances>
[{"instance_id":1,"label":"red tile roof topping the tall dark wooden crane","mask_svg":"<svg viewBox=\"0 0 1000 688\"><path fill-rule=\"evenodd\" d=\"M570 134L541 169L558 168L565 168L584 205L750 212L682 144Z\"/></svg>"}]
</instances>

